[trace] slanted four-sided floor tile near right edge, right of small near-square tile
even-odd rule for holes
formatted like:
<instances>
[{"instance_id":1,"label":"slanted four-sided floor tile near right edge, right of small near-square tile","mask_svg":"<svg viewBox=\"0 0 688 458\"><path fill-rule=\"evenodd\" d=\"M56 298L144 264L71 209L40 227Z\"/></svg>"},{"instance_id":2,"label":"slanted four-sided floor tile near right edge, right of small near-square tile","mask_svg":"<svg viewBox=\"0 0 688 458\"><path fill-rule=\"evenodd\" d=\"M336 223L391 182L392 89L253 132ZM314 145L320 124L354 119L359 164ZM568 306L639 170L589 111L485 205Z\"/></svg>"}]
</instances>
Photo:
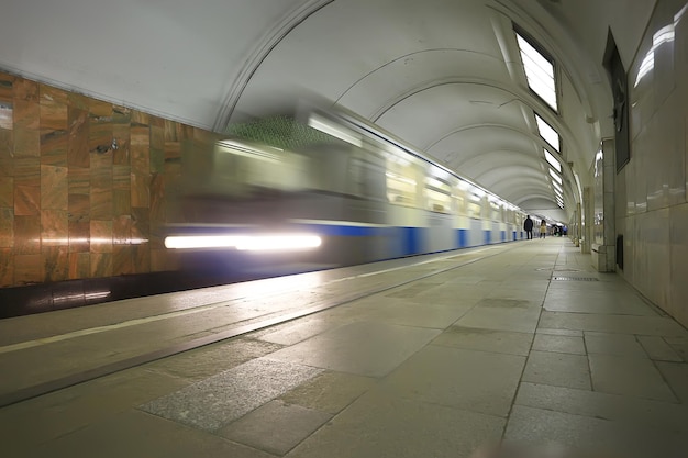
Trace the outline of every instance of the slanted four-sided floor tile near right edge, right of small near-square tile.
<instances>
[{"instance_id":1,"label":"slanted four-sided floor tile near right edge, right of small near-square tile","mask_svg":"<svg viewBox=\"0 0 688 458\"><path fill-rule=\"evenodd\" d=\"M592 388L611 394L674 401L676 396L647 358L589 355Z\"/></svg>"}]
</instances>

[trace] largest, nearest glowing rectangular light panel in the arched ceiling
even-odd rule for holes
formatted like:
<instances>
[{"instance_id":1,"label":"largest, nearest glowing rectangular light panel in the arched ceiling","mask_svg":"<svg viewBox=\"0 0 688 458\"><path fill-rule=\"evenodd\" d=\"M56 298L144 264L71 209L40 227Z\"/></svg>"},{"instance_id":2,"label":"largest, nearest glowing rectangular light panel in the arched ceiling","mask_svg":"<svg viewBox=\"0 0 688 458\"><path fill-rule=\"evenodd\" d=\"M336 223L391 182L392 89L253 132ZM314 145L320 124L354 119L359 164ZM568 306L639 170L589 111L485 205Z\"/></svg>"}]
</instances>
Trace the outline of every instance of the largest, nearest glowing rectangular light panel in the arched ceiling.
<instances>
[{"instance_id":1,"label":"largest, nearest glowing rectangular light panel in the arched ceiling","mask_svg":"<svg viewBox=\"0 0 688 458\"><path fill-rule=\"evenodd\" d=\"M554 60L536 49L530 41L517 32L517 42L521 51L521 60L525 70L528 86L552 110L558 111L556 104L556 81L554 79Z\"/></svg>"}]
</instances>

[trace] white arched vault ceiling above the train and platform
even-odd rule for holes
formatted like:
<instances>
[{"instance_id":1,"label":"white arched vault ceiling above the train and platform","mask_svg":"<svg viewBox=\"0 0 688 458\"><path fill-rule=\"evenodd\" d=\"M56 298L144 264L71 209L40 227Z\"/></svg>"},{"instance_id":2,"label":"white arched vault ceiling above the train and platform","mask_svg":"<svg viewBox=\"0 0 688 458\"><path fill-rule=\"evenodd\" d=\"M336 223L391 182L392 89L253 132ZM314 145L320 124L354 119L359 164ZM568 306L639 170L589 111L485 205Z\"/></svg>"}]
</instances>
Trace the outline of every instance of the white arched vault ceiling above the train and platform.
<instances>
[{"instance_id":1,"label":"white arched vault ceiling above the train and platform","mask_svg":"<svg viewBox=\"0 0 688 458\"><path fill-rule=\"evenodd\" d=\"M574 174L589 185L599 141L613 132L602 67L608 31L628 67L653 8L628 0L24 0L0 18L0 69L215 131L317 96L526 211L568 221L580 196ZM514 24L556 63L558 113L528 88ZM534 112L563 142L564 211Z\"/></svg>"}]
</instances>

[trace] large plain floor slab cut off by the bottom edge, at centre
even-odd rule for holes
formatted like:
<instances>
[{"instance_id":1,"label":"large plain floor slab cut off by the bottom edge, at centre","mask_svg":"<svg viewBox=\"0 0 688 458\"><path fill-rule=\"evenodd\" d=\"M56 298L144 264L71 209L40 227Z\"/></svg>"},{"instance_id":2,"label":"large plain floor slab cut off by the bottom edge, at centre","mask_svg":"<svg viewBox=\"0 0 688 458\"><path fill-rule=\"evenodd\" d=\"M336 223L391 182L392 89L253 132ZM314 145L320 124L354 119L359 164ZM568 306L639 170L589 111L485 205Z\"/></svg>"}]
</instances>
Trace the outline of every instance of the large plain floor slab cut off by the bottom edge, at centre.
<instances>
[{"instance_id":1,"label":"large plain floor slab cut off by the bottom edge, at centre","mask_svg":"<svg viewBox=\"0 0 688 458\"><path fill-rule=\"evenodd\" d=\"M443 405L363 395L287 458L467 457L501 437L506 420Z\"/></svg>"}]
</instances>

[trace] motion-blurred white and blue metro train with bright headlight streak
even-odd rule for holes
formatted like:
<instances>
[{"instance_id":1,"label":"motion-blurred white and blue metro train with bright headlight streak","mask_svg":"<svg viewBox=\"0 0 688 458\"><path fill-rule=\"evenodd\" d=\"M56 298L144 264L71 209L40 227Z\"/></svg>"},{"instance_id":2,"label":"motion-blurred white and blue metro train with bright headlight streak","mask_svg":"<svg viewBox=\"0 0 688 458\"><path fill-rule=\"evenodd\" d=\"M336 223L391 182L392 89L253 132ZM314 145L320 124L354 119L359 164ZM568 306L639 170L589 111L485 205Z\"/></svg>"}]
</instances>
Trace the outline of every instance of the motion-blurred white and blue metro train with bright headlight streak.
<instances>
[{"instance_id":1,"label":"motion-blurred white and blue metro train with bright headlight streak","mask_svg":"<svg viewBox=\"0 0 688 458\"><path fill-rule=\"evenodd\" d=\"M292 125L289 147L229 138L185 164L187 222L165 238L182 268L292 273L524 236L519 208L353 113Z\"/></svg>"}]
</instances>

